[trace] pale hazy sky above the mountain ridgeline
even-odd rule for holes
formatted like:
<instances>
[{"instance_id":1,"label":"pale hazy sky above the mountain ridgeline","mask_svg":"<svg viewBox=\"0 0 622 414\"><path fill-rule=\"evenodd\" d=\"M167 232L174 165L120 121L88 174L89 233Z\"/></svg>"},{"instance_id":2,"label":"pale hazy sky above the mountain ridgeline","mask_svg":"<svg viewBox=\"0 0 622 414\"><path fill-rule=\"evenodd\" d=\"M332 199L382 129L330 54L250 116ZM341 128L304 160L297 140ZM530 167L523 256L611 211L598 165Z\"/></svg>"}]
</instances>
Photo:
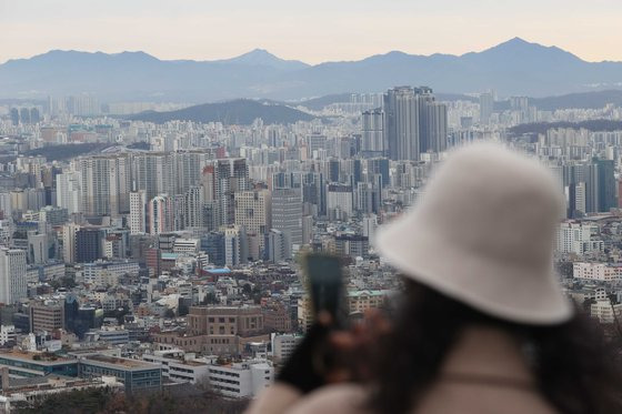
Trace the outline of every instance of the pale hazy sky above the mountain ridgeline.
<instances>
[{"instance_id":1,"label":"pale hazy sky above the mountain ridgeline","mask_svg":"<svg viewBox=\"0 0 622 414\"><path fill-rule=\"evenodd\" d=\"M0 0L0 62L51 49L309 63L461 54L513 37L622 61L621 0Z\"/></svg>"}]
</instances>

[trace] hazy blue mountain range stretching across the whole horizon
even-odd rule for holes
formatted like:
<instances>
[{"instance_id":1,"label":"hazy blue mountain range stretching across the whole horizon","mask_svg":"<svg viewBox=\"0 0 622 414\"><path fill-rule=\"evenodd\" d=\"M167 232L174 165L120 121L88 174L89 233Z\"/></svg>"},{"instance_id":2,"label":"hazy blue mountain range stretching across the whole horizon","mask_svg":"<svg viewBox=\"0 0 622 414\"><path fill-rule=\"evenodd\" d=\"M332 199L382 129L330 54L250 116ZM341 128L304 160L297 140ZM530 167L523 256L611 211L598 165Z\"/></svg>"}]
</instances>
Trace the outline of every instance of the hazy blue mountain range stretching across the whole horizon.
<instances>
[{"instance_id":1,"label":"hazy blue mountain range stretching across the whole horizon","mask_svg":"<svg viewBox=\"0 0 622 414\"><path fill-rule=\"evenodd\" d=\"M622 89L622 62L586 62L556 47L514 38L462 55L393 51L315 65L282 60L261 49L217 61L53 50L0 64L0 98L92 93L102 101L300 100L379 92L398 84L424 84L451 93L494 89L502 97L542 98Z\"/></svg>"}]
</instances>

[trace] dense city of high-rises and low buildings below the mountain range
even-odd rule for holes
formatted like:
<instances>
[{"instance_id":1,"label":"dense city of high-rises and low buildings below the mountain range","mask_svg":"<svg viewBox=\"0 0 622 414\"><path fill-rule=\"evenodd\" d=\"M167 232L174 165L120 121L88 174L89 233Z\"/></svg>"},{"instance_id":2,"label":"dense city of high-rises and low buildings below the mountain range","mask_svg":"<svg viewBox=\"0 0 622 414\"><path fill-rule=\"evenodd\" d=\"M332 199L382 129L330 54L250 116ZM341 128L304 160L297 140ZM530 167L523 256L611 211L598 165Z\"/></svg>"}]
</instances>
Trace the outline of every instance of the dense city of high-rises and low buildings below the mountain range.
<instances>
[{"instance_id":1,"label":"dense city of high-rises and low buildings below the mountain range","mask_svg":"<svg viewBox=\"0 0 622 414\"><path fill-rule=\"evenodd\" d=\"M214 412L240 412L314 322L299 259L342 258L352 319L387 307L401 282L378 229L483 141L556 178L564 294L622 354L621 83L535 97L413 82L298 99L2 94L0 413L205 391Z\"/></svg>"}]
</instances>

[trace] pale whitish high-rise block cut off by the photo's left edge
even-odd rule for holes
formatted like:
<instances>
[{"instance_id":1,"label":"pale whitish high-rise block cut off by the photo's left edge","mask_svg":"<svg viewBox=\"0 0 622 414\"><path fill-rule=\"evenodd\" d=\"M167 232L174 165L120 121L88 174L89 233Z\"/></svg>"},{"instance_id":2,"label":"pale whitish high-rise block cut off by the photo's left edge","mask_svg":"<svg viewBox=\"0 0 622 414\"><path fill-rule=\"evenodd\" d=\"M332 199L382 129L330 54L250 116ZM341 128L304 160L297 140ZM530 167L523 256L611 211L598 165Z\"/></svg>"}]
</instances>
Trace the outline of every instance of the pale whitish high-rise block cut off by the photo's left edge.
<instances>
[{"instance_id":1,"label":"pale whitish high-rise block cut off by the photo's left edge","mask_svg":"<svg viewBox=\"0 0 622 414\"><path fill-rule=\"evenodd\" d=\"M27 295L26 251L0 248L0 303L13 304Z\"/></svg>"}]
</instances>

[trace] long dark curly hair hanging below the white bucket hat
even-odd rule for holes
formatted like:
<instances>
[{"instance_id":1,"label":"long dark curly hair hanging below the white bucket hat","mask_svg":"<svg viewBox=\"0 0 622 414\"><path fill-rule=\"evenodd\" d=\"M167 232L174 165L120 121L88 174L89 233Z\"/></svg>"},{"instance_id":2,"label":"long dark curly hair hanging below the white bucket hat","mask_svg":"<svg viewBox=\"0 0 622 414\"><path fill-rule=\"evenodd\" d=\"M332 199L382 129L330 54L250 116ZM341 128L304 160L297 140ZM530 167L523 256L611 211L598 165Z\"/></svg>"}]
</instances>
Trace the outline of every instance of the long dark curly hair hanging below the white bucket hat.
<instances>
[{"instance_id":1,"label":"long dark curly hair hanging below the white bucket hat","mask_svg":"<svg viewBox=\"0 0 622 414\"><path fill-rule=\"evenodd\" d=\"M381 352L372 368L377 386L368 407L391 414L417 407L469 325L494 326L529 344L536 385L559 412L622 413L622 371L615 350L599 324L581 312L554 326L516 324L485 315L410 280L404 281L404 300L395 312L394 329L378 343ZM619 356L620 349L616 352Z\"/></svg>"}]
</instances>

